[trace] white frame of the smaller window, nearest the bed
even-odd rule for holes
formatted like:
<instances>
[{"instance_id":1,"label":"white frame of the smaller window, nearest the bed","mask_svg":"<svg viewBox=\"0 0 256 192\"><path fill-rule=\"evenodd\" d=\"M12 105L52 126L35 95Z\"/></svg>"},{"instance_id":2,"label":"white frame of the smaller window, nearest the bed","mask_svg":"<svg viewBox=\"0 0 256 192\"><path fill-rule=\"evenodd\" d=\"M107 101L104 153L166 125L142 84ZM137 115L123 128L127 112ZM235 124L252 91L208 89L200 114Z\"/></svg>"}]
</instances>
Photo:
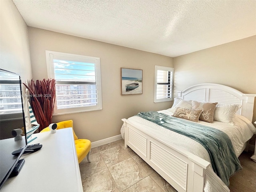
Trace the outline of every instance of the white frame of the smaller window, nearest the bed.
<instances>
[{"instance_id":1,"label":"white frame of the smaller window, nearest the bed","mask_svg":"<svg viewBox=\"0 0 256 192\"><path fill-rule=\"evenodd\" d=\"M157 72L158 70L162 70L162 71L168 71L168 72L172 72L172 78L170 81L170 97L168 98L157 98L157 85L160 84L157 82ZM174 68L173 67L165 67L165 66L158 66L155 65L155 76L154 76L154 103L158 103L158 102L167 102L167 101L172 101L173 100L173 81L174 81ZM162 83L161 83L162 84Z\"/></svg>"}]
</instances>

